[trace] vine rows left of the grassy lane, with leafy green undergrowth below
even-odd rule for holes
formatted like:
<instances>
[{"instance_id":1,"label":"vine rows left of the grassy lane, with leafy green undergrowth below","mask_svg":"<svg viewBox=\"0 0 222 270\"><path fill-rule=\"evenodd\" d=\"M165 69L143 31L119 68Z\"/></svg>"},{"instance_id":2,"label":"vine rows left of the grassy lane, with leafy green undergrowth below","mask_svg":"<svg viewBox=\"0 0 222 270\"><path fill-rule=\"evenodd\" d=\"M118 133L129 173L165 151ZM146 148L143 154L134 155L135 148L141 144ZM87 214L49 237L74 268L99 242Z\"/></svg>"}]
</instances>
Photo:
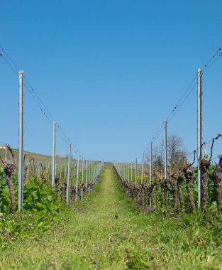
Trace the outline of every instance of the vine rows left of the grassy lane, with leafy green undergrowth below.
<instances>
[{"instance_id":1,"label":"vine rows left of the grassy lane, with leafy green undergrowth below","mask_svg":"<svg viewBox=\"0 0 222 270\"><path fill-rule=\"evenodd\" d=\"M18 209L18 151L1 146L0 230L1 247L35 229L47 231L65 205L78 205L93 193L103 163L70 161L57 158L55 185L52 185L52 162L48 156L26 153L23 171L23 213Z\"/></svg>"}]
</instances>

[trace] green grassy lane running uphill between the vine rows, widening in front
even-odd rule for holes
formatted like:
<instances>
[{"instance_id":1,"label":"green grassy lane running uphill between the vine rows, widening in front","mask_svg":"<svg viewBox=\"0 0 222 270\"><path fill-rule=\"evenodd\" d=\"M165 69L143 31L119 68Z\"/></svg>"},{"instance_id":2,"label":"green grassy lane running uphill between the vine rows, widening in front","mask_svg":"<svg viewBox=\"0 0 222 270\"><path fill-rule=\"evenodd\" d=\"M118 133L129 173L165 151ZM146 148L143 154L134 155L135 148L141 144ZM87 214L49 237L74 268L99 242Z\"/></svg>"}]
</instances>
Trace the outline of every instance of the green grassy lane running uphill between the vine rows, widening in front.
<instances>
[{"instance_id":1,"label":"green grassy lane running uphill between the vine rows, widening in front","mask_svg":"<svg viewBox=\"0 0 222 270\"><path fill-rule=\"evenodd\" d=\"M112 170L86 205L61 215L53 232L1 254L0 269L222 269L220 232L135 210Z\"/></svg>"}]
</instances>

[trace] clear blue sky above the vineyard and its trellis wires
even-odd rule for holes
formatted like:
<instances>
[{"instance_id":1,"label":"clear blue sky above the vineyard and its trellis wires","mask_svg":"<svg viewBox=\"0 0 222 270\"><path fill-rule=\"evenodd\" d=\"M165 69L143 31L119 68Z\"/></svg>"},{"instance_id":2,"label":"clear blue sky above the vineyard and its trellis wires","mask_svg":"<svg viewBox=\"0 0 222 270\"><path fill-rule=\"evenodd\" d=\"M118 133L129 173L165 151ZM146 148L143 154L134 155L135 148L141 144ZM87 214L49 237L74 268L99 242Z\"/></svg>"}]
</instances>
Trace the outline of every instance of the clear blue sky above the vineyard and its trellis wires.
<instances>
[{"instance_id":1,"label":"clear blue sky above the vineyard and its trellis wires","mask_svg":"<svg viewBox=\"0 0 222 270\"><path fill-rule=\"evenodd\" d=\"M0 45L85 158L139 156L222 45L221 0L1 0L0 7ZM0 73L0 141L17 148L18 77L3 59ZM222 132L221 74L222 58L204 76L206 141ZM196 148L196 89L168 129L188 151ZM52 127L26 92L26 150L50 154L51 141ZM67 153L60 136L57 152Z\"/></svg>"}]
</instances>

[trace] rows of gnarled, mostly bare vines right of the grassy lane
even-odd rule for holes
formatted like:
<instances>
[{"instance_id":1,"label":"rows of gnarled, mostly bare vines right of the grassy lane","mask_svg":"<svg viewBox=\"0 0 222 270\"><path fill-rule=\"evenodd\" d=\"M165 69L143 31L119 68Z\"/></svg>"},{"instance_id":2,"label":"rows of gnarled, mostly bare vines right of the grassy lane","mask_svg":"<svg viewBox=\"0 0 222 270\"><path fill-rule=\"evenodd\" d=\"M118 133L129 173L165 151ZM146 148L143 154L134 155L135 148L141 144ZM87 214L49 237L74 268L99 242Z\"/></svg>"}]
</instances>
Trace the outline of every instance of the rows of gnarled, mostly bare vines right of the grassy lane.
<instances>
[{"instance_id":1,"label":"rows of gnarled, mostly bare vines right of the grassy lane","mask_svg":"<svg viewBox=\"0 0 222 270\"><path fill-rule=\"evenodd\" d=\"M212 213L222 211L222 156L219 156L219 163L215 166L211 161L213 144L221 138L219 134L212 140L211 155L201 159L201 210ZM167 167L168 177L164 177L164 166L155 162L153 168L153 179L150 181L150 171L138 172L137 164L116 163L115 169L121 181L123 189L131 195L138 205L150 212L159 210L161 212L180 214L182 212L196 212L198 209L198 180L197 170L193 167L194 161L189 163L184 157L182 164L172 162ZM180 166L179 166L180 165ZM135 167L135 168L134 168ZM141 166L140 166L141 167Z\"/></svg>"}]
</instances>

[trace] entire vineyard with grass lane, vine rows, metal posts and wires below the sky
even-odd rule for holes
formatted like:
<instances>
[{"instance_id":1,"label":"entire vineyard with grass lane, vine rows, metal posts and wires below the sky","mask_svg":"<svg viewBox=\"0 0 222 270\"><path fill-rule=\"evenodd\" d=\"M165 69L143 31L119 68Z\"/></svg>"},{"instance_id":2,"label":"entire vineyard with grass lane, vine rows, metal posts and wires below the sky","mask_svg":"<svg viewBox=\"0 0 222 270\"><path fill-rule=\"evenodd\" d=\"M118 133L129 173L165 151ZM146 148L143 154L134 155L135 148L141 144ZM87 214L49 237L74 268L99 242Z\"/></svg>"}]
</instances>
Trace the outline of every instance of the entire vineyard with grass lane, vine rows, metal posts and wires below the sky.
<instances>
[{"instance_id":1,"label":"entire vineyard with grass lane, vine rows, metal posts and wires below the sky","mask_svg":"<svg viewBox=\"0 0 222 270\"><path fill-rule=\"evenodd\" d=\"M221 48L211 60L216 55ZM52 156L24 151L29 82L18 70L18 149L0 146L0 269L220 269L222 155L216 153L222 135L202 141L202 75L199 69L153 137L164 131L160 146L151 141L133 162L107 163L72 149L37 94L52 125ZM167 124L196 86L197 148L187 153L179 136L167 135ZM56 134L67 156L56 154Z\"/></svg>"}]
</instances>

